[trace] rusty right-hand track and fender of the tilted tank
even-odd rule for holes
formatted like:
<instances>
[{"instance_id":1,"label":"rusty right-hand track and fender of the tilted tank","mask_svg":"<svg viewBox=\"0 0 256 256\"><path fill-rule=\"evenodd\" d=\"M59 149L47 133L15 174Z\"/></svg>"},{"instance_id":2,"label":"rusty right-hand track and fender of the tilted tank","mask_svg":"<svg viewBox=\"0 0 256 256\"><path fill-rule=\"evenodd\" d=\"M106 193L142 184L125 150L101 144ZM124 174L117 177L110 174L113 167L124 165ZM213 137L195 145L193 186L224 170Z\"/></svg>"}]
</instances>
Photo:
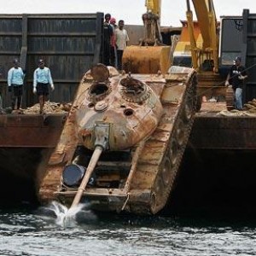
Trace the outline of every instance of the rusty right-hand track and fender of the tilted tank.
<instances>
[{"instance_id":1,"label":"rusty right-hand track and fender of the tilted tank","mask_svg":"<svg viewBox=\"0 0 256 256\"><path fill-rule=\"evenodd\" d=\"M169 86L175 86L180 82L180 79L172 79ZM137 171L131 183L131 200L127 203L127 211L154 214L163 209L170 198L196 111L195 73L186 83L183 100L178 106L163 102L165 114L141 152ZM163 93L165 90L167 89L164 89ZM152 181L154 183L150 183ZM150 191L148 200L139 196L142 194L139 193L140 189Z\"/></svg>"}]
</instances>

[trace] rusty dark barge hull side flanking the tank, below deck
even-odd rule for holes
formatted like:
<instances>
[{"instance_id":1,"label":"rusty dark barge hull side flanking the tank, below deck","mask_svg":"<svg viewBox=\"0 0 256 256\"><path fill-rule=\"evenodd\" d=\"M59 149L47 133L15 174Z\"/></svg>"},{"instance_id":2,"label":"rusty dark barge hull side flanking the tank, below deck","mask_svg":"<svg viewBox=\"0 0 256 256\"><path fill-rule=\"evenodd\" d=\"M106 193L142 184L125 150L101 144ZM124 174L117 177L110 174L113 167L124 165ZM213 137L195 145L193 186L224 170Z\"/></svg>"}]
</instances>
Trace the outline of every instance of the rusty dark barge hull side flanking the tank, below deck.
<instances>
[{"instance_id":1,"label":"rusty dark barge hull side flanking the tank, below deck","mask_svg":"<svg viewBox=\"0 0 256 256\"><path fill-rule=\"evenodd\" d=\"M243 213L255 210L256 116L227 116L224 111L224 103L203 102L195 114L167 212L201 212L209 207L213 212L226 207ZM39 114L0 115L2 207L38 202L38 183L44 176L42 169L38 172L40 163L54 151L66 118L67 113L46 119Z\"/></svg>"}]
</instances>

